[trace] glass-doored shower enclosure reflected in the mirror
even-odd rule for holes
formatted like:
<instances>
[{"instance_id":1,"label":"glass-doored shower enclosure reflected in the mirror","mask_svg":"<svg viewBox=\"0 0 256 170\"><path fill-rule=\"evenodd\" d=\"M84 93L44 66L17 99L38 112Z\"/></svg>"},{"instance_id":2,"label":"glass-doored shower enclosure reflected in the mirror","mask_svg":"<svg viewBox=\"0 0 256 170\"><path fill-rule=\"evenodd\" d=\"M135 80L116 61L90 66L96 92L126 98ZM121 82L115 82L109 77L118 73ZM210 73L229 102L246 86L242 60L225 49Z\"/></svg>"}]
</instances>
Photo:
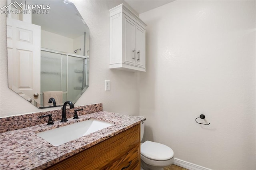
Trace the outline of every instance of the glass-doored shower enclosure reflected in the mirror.
<instances>
[{"instance_id":1,"label":"glass-doored shower enclosure reflected in the mirror","mask_svg":"<svg viewBox=\"0 0 256 170\"><path fill-rule=\"evenodd\" d=\"M62 91L62 103L75 103L89 85L88 62L86 56L41 48L41 106L44 91Z\"/></svg>"}]
</instances>

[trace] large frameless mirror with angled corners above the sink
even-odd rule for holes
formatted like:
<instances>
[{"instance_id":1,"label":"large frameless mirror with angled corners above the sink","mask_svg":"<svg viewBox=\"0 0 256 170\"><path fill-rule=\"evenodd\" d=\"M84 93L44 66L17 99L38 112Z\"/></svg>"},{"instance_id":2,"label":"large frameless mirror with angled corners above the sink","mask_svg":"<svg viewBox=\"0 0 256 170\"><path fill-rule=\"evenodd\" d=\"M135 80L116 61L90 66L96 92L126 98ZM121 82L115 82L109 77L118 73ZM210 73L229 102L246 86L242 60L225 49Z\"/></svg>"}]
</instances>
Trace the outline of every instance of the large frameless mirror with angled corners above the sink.
<instances>
[{"instance_id":1,"label":"large frameless mirror with angled corners above the sink","mask_svg":"<svg viewBox=\"0 0 256 170\"><path fill-rule=\"evenodd\" d=\"M41 109L75 103L89 86L89 28L76 6L68 0L6 4L19 11L7 14L9 88Z\"/></svg>"}]
</instances>

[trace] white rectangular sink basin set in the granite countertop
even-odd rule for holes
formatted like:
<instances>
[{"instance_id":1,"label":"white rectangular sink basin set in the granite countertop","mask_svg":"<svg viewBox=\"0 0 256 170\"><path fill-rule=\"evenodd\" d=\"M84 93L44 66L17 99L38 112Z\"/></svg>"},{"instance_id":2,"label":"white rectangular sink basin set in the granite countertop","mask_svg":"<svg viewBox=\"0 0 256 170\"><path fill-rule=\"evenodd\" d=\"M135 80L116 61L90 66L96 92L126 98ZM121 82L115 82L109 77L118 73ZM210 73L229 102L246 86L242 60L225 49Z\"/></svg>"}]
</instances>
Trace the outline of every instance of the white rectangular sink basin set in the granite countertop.
<instances>
[{"instance_id":1,"label":"white rectangular sink basin set in the granite countertop","mask_svg":"<svg viewBox=\"0 0 256 170\"><path fill-rule=\"evenodd\" d=\"M64 127L54 128L44 132L37 133L38 136L52 144L53 146L59 146L71 140L80 138L92 132L96 132L106 127L110 127L114 124L90 119L67 125Z\"/></svg>"}]
</instances>

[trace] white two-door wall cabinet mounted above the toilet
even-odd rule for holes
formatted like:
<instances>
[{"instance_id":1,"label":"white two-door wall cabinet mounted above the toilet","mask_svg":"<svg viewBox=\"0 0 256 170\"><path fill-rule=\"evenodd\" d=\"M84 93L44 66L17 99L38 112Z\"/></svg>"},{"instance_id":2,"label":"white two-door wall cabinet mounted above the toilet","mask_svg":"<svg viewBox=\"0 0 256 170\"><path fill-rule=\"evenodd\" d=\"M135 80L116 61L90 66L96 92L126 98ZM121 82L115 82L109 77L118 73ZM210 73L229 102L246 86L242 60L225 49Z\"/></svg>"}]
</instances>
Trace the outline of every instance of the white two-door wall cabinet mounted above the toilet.
<instances>
[{"instance_id":1,"label":"white two-door wall cabinet mounted above the toilet","mask_svg":"<svg viewBox=\"0 0 256 170\"><path fill-rule=\"evenodd\" d=\"M110 69L146 71L146 24L120 4L110 11Z\"/></svg>"}]
</instances>

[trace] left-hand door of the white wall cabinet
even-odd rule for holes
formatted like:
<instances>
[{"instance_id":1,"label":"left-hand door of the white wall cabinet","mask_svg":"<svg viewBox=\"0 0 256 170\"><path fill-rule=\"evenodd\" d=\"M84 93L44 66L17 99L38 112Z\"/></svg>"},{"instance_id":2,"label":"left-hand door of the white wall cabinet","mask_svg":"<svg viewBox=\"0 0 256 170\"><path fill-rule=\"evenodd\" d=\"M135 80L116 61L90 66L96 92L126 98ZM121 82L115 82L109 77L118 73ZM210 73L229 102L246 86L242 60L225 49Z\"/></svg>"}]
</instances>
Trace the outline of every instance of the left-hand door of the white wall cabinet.
<instances>
[{"instance_id":1,"label":"left-hand door of the white wall cabinet","mask_svg":"<svg viewBox=\"0 0 256 170\"><path fill-rule=\"evenodd\" d=\"M124 18L124 62L135 64L135 24Z\"/></svg>"}]
</instances>

